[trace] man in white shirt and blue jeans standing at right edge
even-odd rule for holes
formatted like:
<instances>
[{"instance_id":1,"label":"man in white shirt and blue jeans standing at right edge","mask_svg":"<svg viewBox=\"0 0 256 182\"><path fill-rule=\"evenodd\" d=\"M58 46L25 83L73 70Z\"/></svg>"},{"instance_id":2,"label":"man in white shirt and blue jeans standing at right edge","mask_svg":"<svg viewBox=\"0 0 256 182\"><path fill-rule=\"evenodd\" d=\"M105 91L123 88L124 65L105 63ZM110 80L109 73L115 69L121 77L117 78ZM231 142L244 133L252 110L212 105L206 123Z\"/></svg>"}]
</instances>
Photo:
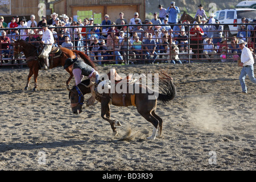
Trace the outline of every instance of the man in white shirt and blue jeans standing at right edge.
<instances>
[{"instance_id":1,"label":"man in white shirt and blue jeans standing at right edge","mask_svg":"<svg viewBox=\"0 0 256 182\"><path fill-rule=\"evenodd\" d=\"M250 49L245 47L247 42L240 40L238 43L240 49L242 50L241 53L241 63L239 64L240 67L242 68L239 80L240 84L242 86L242 93L247 94L247 88L245 85L245 77L248 75L251 82L256 84L256 79L254 77L254 69L253 69L253 64L254 64L254 58L253 58L253 53L251 53Z\"/></svg>"}]
</instances>

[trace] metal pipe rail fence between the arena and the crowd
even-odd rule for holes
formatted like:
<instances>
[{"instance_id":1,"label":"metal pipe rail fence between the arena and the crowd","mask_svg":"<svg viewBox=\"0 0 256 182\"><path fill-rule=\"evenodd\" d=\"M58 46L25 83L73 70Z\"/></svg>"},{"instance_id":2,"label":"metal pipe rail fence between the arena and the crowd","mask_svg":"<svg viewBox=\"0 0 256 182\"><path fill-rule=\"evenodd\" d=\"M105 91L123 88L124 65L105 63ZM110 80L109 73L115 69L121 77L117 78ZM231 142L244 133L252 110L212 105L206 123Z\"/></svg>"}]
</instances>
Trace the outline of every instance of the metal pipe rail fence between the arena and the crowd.
<instances>
[{"instance_id":1,"label":"metal pipe rail fence between the arena and the crowd","mask_svg":"<svg viewBox=\"0 0 256 182\"><path fill-rule=\"evenodd\" d=\"M202 26L202 24L176 24L176 26L184 26L185 35L187 35L187 37L176 37L175 33L181 34L180 30L174 31L174 29L161 29L165 26L171 26L170 24L133 25L134 27L142 26L143 31L130 31L129 25L53 27L56 30L56 32L53 32L53 35L55 36L56 46L61 46L65 42L63 37L68 36L71 39L71 42L67 44L69 46L65 46L66 48L82 51L98 64L191 63L191 61L196 60L236 61L236 59L238 59L237 57L241 54L241 50L239 49L237 42L233 43L233 39L243 39L248 42L248 47L255 50L256 32L254 30L241 31L238 33L238 36L236 35L237 38L229 36L229 30L208 30L204 31L204 35L200 38L198 36L193 37L195 31L192 31L191 28L195 25ZM227 24L206 25L226 26ZM247 27L249 27L248 25L254 27L255 24L246 24ZM156 28L156 30L151 30L150 26ZM159 28L159 26L161 26L161 28ZM113 33L103 31L106 27L109 27L109 29L118 27L119 30L115 30ZM10 32L15 32L17 29L19 29L18 34L10 34ZM30 30L34 30L37 34L24 34L24 32L28 33ZM63 30L64 33L60 33L60 30ZM96 32L93 32L93 30L96 30ZM100 30L100 32L97 32L97 30ZM38 38L38 32L41 31L41 28L0 28L0 31L6 31L6 36L10 39L10 43L8 44L1 38L0 66L18 65L22 67L23 65L26 65L26 57L24 57L24 55L20 55L18 58L14 57L12 39L27 40L28 42L35 44L35 46L39 46L40 39ZM139 39L136 38L134 32L137 32ZM148 44L148 42L146 42L148 39L147 37L144 37L146 32L154 35L152 35L152 40L155 40L156 44L152 44L152 42ZM161 35L157 35L156 32L159 32ZM197 34L199 34L198 31ZM221 35L212 36L213 49L205 48L205 45L208 44L206 40L209 39L208 37L205 37L205 34ZM176 46L174 46L174 43ZM9 47L6 47L8 45ZM153 47L155 48L152 49Z\"/></svg>"}]
</instances>

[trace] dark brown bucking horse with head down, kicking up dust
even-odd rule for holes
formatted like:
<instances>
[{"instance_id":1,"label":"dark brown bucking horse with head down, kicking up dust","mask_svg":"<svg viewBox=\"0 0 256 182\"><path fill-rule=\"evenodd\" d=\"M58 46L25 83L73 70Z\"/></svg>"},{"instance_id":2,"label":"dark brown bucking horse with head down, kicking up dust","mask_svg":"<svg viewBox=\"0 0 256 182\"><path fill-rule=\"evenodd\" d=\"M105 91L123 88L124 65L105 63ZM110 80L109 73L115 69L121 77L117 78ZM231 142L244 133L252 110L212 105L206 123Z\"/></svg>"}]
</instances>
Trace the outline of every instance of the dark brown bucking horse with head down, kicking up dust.
<instances>
[{"instance_id":1,"label":"dark brown bucking horse with head down, kicking up dust","mask_svg":"<svg viewBox=\"0 0 256 182\"><path fill-rule=\"evenodd\" d=\"M115 82L115 88L116 85L122 81L124 81L123 84L128 84L126 79L120 80ZM91 92L89 88L90 84L90 80L84 80L69 92L73 114L80 114L82 112L82 105L85 102L84 95ZM101 102L101 117L110 123L110 126L116 135L117 130L115 125L121 126L121 124L110 118L110 104L126 107L135 106L137 107L138 113L154 126L152 136L147 139L154 140L156 137L162 137L163 119L155 113L156 105L158 100L166 103L175 98L176 90L172 83L172 78L167 76L159 79L159 90L162 93L157 94L155 94L156 92L154 91L152 92L152 90L144 84L133 84L132 87L134 85L138 86L138 92L129 93L129 86L127 86L126 93L117 93L117 90L112 93L112 88L108 88L110 91L109 93L104 92L100 96L97 96L96 99ZM97 88L100 89L99 86ZM131 90L133 90L133 88Z\"/></svg>"}]
</instances>

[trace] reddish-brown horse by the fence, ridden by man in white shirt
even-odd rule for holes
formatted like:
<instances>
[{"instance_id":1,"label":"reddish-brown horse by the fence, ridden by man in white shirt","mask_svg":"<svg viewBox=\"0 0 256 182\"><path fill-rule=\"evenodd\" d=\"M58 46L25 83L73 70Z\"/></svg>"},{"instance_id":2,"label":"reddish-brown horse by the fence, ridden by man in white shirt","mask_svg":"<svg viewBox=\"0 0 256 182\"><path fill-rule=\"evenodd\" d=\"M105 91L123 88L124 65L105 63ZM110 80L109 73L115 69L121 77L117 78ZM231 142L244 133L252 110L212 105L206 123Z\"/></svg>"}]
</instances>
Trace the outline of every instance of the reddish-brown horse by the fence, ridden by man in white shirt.
<instances>
[{"instance_id":1,"label":"reddish-brown horse by the fence, ridden by man in white shirt","mask_svg":"<svg viewBox=\"0 0 256 182\"><path fill-rule=\"evenodd\" d=\"M33 90L36 91L36 88L38 88L38 71L39 71L39 69L41 69L41 66L40 66L41 60L38 59L39 52L40 52L39 47L36 47L36 46L32 45L31 43L28 43L24 40L15 40L13 43L13 47L14 47L14 56L17 57L20 52L23 52L27 59L27 65L30 68L30 73L28 73L27 84L26 84L25 90L27 90L28 87L30 86L30 79L31 79L32 75L34 75L35 86L34 86ZM91 67L93 67L94 69L96 69L94 63L92 61L90 61L89 57L87 55L85 55L84 53L82 53L81 51L70 50L70 49L67 49L64 47L60 47L59 53L55 53L55 55L52 54L52 56L53 56L53 59L52 59L51 53L50 53L49 69L63 66L65 64L66 59L68 59L69 57L71 57L72 59L75 59L76 56L80 56L81 59L83 59L86 64L88 64ZM73 73L72 73L71 68L67 68L66 71L70 75L66 82L67 88L69 88L69 82L71 81L71 79L73 77Z\"/></svg>"}]
</instances>

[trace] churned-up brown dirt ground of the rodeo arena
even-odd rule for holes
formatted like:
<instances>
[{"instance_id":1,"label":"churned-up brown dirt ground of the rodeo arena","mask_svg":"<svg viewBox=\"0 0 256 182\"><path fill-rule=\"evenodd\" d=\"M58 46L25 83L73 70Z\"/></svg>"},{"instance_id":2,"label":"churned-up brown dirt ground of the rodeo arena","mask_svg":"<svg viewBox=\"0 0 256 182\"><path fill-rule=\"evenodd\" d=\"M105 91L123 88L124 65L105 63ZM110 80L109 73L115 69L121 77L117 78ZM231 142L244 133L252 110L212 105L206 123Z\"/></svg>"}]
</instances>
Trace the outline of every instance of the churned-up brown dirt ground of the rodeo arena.
<instances>
[{"instance_id":1,"label":"churned-up brown dirt ground of the rodeo arena","mask_svg":"<svg viewBox=\"0 0 256 182\"><path fill-rule=\"evenodd\" d=\"M63 68L40 71L38 91L24 90L28 68L0 69L0 169L2 170L255 170L256 86L241 94L236 63L101 66L100 73L164 69L177 96L158 102L163 137L134 106L111 106L122 126L112 135L100 104L71 112ZM74 79L72 79L74 84ZM89 97L89 96L86 96ZM128 135L129 140L119 140Z\"/></svg>"}]
</instances>

